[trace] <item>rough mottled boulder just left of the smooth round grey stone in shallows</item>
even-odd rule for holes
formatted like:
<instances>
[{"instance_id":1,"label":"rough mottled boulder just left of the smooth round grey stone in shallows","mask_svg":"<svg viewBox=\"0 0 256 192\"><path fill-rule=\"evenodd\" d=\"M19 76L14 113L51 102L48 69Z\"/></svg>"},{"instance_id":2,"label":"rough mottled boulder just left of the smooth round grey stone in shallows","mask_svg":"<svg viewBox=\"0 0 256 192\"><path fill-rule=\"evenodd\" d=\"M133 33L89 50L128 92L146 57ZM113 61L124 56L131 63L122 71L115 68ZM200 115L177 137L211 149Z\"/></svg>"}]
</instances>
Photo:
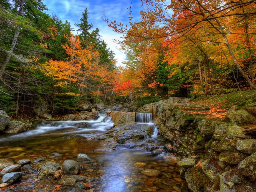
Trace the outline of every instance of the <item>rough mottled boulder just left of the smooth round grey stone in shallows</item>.
<instances>
[{"instance_id":1,"label":"rough mottled boulder just left of the smooth round grey stone in shallows","mask_svg":"<svg viewBox=\"0 0 256 192\"><path fill-rule=\"evenodd\" d=\"M45 179L54 176L54 173L60 169L60 164L56 162L45 162L38 168L38 179Z\"/></svg>"}]
</instances>

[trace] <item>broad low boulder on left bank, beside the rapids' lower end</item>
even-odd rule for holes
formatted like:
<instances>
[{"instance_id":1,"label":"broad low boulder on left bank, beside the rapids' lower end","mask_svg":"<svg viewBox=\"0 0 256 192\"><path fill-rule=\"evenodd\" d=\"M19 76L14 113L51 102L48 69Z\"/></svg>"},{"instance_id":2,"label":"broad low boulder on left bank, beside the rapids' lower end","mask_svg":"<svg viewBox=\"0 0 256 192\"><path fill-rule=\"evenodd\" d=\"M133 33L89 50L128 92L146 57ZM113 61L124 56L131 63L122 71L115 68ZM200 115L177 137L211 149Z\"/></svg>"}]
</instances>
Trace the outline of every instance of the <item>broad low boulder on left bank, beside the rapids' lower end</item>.
<instances>
[{"instance_id":1,"label":"broad low boulder on left bank, beside the rapids' lower end","mask_svg":"<svg viewBox=\"0 0 256 192\"><path fill-rule=\"evenodd\" d=\"M32 123L23 123L20 121L10 121L4 130L5 133L20 133L28 131Z\"/></svg>"}]
</instances>

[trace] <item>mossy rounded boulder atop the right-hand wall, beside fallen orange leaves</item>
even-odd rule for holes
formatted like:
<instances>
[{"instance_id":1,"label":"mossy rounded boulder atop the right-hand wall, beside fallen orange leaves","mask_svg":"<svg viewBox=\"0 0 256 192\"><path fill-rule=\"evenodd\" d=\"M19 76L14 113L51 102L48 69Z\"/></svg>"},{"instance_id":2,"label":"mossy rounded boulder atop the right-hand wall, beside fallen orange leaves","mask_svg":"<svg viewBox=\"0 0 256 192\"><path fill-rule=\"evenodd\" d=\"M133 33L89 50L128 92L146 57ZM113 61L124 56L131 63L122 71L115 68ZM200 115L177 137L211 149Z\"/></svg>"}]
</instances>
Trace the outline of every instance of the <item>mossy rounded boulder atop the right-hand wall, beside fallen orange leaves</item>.
<instances>
[{"instance_id":1,"label":"mossy rounded boulder atop the right-hand wall, beside fallen orange leaves","mask_svg":"<svg viewBox=\"0 0 256 192\"><path fill-rule=\"evenodd\" d=\"M248 113L245 110L238 110L236 112L232 112L230 114L228 114L225 118L224 121L227 122L237 122L237 123L254 123L256 122L256 117L254 117L253 115L251 115L250 113Z\"/></svg>"}]
</instances>

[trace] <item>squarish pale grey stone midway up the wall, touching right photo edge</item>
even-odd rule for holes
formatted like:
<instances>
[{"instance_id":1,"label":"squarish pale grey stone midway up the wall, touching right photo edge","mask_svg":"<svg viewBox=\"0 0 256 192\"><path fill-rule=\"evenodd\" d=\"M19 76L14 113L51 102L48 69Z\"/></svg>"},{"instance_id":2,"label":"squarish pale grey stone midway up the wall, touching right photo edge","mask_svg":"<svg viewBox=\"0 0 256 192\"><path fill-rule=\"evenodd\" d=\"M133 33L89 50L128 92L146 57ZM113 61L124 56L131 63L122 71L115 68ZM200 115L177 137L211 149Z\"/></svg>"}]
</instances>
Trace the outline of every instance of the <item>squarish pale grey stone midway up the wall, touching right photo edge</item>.
<instances>
[{"instance_id":1,"label":"squarish pale grey stone midway up the wall, touching right photo edge","mask_svg":"<svg viewBox=\"0 0 256 192\"><path fill-rule=\"evenodd\" d=\"M236 149L250 155L256 149L256 139L238 140L236 142Z\"/></svg>"}]
</instances>

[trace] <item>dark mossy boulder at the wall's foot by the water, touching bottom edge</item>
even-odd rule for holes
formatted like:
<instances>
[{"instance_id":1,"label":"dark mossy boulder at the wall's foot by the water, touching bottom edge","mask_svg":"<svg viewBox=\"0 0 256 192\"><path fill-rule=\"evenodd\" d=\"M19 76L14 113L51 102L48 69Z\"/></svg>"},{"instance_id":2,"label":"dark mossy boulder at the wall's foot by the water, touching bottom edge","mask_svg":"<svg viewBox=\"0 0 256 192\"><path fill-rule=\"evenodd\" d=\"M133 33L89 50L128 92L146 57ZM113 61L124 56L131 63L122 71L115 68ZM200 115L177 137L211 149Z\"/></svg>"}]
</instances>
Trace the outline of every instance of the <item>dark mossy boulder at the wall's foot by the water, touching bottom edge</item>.
<instances>
[{"instance_id":1,"label":"dark mossy boulder at the wall's foot by the water, touching bottom edge","mask_svg":"<svg viewBox=\"0 0 256 192\"><path fill-rule=\"evenodd\" d=\"M188 188L192 192L209 191L207 188L212 186L210 179L204 174L200 166L188 168L185 173L186 181L188 182Z\"/></svg>"}]
</instances>

